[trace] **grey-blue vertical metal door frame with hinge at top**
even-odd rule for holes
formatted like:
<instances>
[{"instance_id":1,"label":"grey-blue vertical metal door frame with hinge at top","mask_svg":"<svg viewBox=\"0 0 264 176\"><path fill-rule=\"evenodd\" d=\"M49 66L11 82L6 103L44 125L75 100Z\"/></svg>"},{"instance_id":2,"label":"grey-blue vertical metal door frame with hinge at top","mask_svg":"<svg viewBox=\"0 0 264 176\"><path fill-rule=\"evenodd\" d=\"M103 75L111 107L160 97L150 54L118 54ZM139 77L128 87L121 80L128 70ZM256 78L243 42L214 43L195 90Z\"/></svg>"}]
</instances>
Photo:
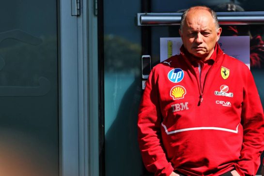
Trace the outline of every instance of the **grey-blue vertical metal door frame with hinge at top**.
<instances>
[{"instance_id":1,"label":"grey-blue vertical metal door frame with hinge at top","mask_svg":"<svg viewBox=\"0 0 264 176\"><path fill-rule=\"evenodd\" d=\"M72 4L76 3L80 14L73 13L76 11ZM93 0L58 2L60 176L99 175L94 3Z\"/></svg>"}]
</instances>

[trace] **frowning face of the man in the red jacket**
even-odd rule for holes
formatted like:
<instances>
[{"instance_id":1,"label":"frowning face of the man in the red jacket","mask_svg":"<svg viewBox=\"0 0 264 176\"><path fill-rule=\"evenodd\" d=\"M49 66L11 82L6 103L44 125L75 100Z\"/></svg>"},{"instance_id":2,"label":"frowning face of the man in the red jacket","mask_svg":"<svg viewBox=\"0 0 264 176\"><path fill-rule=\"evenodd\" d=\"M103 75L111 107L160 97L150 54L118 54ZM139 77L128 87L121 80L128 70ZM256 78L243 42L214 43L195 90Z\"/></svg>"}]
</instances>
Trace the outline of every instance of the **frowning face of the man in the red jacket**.
<instances>
[{"instance_id":1,"label":"frowning face of the man in the red jacket","mask_svg":"<svg viewBox=\"0 0 264 176\"><path fill-rule=\"evenodd\" d=\"M202 9L190 10L180 35L186 50L195 57L206 60L214 52L222 29L216 29L212 15Z\"/></svg>"}]
</instances>

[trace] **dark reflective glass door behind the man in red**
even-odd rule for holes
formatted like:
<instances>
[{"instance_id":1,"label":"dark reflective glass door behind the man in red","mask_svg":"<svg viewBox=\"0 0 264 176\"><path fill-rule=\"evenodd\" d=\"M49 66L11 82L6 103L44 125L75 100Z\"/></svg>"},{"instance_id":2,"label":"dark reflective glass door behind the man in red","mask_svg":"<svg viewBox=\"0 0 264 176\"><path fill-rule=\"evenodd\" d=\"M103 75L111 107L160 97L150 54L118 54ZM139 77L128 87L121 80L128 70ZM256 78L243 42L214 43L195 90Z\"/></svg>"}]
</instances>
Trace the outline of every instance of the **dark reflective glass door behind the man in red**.
<instances>
[{"instance_id":1,"label":"dark reflective glass door behind the man in red","mask_svg":"<svg viewBox=\"0 0 264 176\"><path fill-rule=\"evenodd\" d=\"M194 5L220 12L263 15L264 1L175 0L104 1L102 5L100 60L102 80L102 175L146 176L137 143L137 113L143 92L141 56L150 55L151 66L160 62L160 38L179 37L179 25L146 25L135 22L138 13L182 13ZM115 19L115 20L112 20ZM262 23L262 24L261 24ZM248 23L249 24L249 23ZM264 104L264 24L221 25L221 36L249 36L250 70ZM100 34L99 34L100 35ZM100 46L99 46L100 47ZM99 48L100 51L100 48ZM262 157L263 158L263 157ZM258 171L260 174L260 170Z\"/></svg>"}]
</instances>

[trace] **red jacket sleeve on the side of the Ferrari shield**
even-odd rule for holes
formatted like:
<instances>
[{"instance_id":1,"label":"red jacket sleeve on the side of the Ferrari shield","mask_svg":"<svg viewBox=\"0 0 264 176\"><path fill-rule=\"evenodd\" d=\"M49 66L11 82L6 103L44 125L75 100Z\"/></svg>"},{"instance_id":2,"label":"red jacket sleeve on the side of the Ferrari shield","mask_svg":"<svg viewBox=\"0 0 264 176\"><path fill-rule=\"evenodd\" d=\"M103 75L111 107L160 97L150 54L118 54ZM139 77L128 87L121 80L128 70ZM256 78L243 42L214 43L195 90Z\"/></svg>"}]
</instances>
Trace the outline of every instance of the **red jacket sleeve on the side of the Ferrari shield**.
<instances>
[{"instance_id":1,"label":"red jacket sleeve on the side of the Ferrari shield","mask_svg":"<svg viewBox=\"0 0 264 176\"><path fill-rule=\"evenodd\" d=\"M236 170L241 176L255 176L260 165L260 155L264 150L264 114L250 71L245 78L247 81L243 89L241 115L243 144Z\"/></svg>"}]
</instances>

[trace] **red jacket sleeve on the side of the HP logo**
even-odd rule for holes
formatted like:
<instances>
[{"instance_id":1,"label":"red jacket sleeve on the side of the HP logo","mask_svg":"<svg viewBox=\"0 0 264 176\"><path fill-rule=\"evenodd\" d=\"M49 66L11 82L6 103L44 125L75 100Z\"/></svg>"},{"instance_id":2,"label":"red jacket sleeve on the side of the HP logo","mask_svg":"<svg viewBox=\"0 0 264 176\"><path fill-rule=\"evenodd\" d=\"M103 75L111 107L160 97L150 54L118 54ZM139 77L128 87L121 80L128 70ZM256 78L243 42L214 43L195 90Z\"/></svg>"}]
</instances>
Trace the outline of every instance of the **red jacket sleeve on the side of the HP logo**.
<instances>
[{"instance_id":1,"label":"red jacket sleeve on the side of the HP logo","mask_svg":"<svg viewBox=\"0 0 264 176\"><path fill-rule=\"evenodd\" d=\"M155 176L169 176L173 172L162 146L159 107L155 73L152 71L144 90L138 116L138 141L145 167Z\"/></svg>"}]
</instances>

